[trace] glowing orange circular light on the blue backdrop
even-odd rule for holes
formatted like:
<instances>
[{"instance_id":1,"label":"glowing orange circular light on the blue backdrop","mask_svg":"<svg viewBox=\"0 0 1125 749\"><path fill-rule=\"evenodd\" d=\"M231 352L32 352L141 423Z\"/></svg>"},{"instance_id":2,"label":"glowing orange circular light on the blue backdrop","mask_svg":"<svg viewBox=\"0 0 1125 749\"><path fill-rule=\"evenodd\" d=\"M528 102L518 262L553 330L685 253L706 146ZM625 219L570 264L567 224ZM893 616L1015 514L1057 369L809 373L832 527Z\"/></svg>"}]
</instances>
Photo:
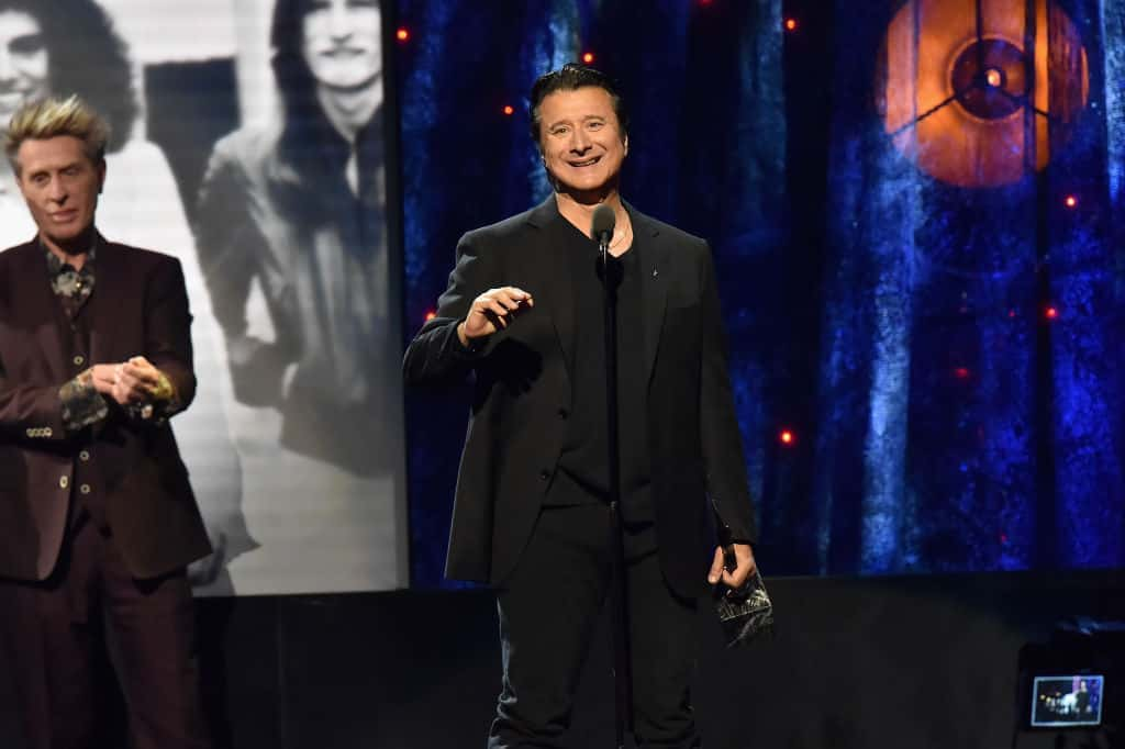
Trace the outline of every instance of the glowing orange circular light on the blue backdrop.
<instances>
[{"instance_id":1,"label":"glowing orange circular light on the blue backdrop","mask_svg":"<svg viewBox=\"0 0 1125 749\"><path fill-rule=\"evenodd\" d=\"M888 26L876 81L883 129L899 153L964 188L1044 169L1090 93L1086 47L1060 6L906 0Z\"/></svg>"}]
</instances>

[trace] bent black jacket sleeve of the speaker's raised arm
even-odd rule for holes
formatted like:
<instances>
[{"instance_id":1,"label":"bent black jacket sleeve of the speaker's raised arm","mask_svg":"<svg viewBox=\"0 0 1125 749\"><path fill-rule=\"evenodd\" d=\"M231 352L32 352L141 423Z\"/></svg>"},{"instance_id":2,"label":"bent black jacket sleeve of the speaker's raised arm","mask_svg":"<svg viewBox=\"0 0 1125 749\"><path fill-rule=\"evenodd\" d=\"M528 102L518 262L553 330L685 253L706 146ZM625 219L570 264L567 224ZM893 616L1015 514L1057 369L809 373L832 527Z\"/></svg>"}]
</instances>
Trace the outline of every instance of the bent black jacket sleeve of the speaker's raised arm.
<instances>
[{"instance_id":1,"label":"bent black jacket sleeve of the speaker's raised arm","mask_svg":"<svg viewBox=\"0 0 1125 749\"><path fill-rule=\"evenodd\" d=\"M403 378L407 385L435 385L464 379L474 364L488 355L503 333L466 348L457 326L469 314L472 300L502 285L495 254L482 251L480 240L466 234L457 244L457 263L449 286L438 299L438 310L406 348Z\"/></svg>"}]
</instances>

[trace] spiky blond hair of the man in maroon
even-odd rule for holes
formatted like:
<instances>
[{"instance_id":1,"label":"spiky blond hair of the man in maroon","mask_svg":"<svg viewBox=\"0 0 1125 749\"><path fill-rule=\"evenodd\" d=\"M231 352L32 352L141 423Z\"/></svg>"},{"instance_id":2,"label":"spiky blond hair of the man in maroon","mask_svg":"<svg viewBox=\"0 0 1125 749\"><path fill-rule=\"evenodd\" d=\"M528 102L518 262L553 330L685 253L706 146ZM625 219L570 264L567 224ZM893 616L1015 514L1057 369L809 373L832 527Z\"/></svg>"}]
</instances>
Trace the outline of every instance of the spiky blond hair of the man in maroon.
<instances>
[{"instance_id":1,"label":"spiky blond hair of the man in maroon","mask_svg":"<svg viewBox=\"0 0 1125 749\"><path fill-rule=\"evenodd\" d=\"M46 141L63 135L81 141L86 155L93 163L105 160L109 123L78 96L47 98L30 101L11 116L3 148L12 170L19 174L19 146L25 141Z\"/></svg>"}]
</instances>

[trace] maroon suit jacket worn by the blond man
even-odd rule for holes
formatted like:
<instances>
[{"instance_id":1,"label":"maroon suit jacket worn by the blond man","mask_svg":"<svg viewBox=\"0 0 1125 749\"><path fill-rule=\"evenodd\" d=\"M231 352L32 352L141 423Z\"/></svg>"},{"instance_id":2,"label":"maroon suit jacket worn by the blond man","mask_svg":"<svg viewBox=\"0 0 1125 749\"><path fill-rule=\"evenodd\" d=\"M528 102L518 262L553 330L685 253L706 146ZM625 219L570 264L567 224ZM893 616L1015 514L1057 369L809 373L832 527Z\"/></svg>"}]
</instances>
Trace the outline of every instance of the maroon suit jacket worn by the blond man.
<instances>
[{"instance_id":1,"label":"maroon suit jacket worn by the blond man","mask_svg":"<svg viewBox=\"0 0 1125 749\"><path fill-rule=\"evenodd\" d=\"M83 310L91 331L87 364L144 355L187 405L196 378L179 261L100 241L96 263L97 286ZM210 545L166 422L133 418L110 404L92 434L66 433L58 388L76 370L65 359L69 332L57 308L37 241L0 253L0 577L51 575L80 453L133 575L155 577L206 556Z\"/></svg>"}]
</instances>

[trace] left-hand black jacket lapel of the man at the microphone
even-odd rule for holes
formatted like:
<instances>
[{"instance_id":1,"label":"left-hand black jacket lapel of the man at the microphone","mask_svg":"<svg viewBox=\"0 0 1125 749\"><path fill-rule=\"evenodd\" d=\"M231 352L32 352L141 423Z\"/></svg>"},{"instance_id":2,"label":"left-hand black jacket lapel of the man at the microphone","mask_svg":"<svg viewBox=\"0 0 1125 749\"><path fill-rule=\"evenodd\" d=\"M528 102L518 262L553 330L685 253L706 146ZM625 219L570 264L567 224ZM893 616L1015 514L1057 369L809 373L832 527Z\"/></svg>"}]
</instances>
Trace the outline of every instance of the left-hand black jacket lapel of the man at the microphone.
<instances>
[{"instance_id":1,"label":"left-hand black jacket lapel of the man at the microphone","mask_svg":"<svg viewBox=\"0 0 1125 749\"><path fill-rule=\"evenodd\" d=\"M536 305L542 305L548 313L567 371L574 372L574 280L564 246L562 233L570 231L560 224L565 220L558 213L555 196L548 197L528 217L537 236L529 243L529 250L521 251L519 256L523 265L521 276L528 279L525 290L534 297Z\"/></svg>"}]
</instances>

